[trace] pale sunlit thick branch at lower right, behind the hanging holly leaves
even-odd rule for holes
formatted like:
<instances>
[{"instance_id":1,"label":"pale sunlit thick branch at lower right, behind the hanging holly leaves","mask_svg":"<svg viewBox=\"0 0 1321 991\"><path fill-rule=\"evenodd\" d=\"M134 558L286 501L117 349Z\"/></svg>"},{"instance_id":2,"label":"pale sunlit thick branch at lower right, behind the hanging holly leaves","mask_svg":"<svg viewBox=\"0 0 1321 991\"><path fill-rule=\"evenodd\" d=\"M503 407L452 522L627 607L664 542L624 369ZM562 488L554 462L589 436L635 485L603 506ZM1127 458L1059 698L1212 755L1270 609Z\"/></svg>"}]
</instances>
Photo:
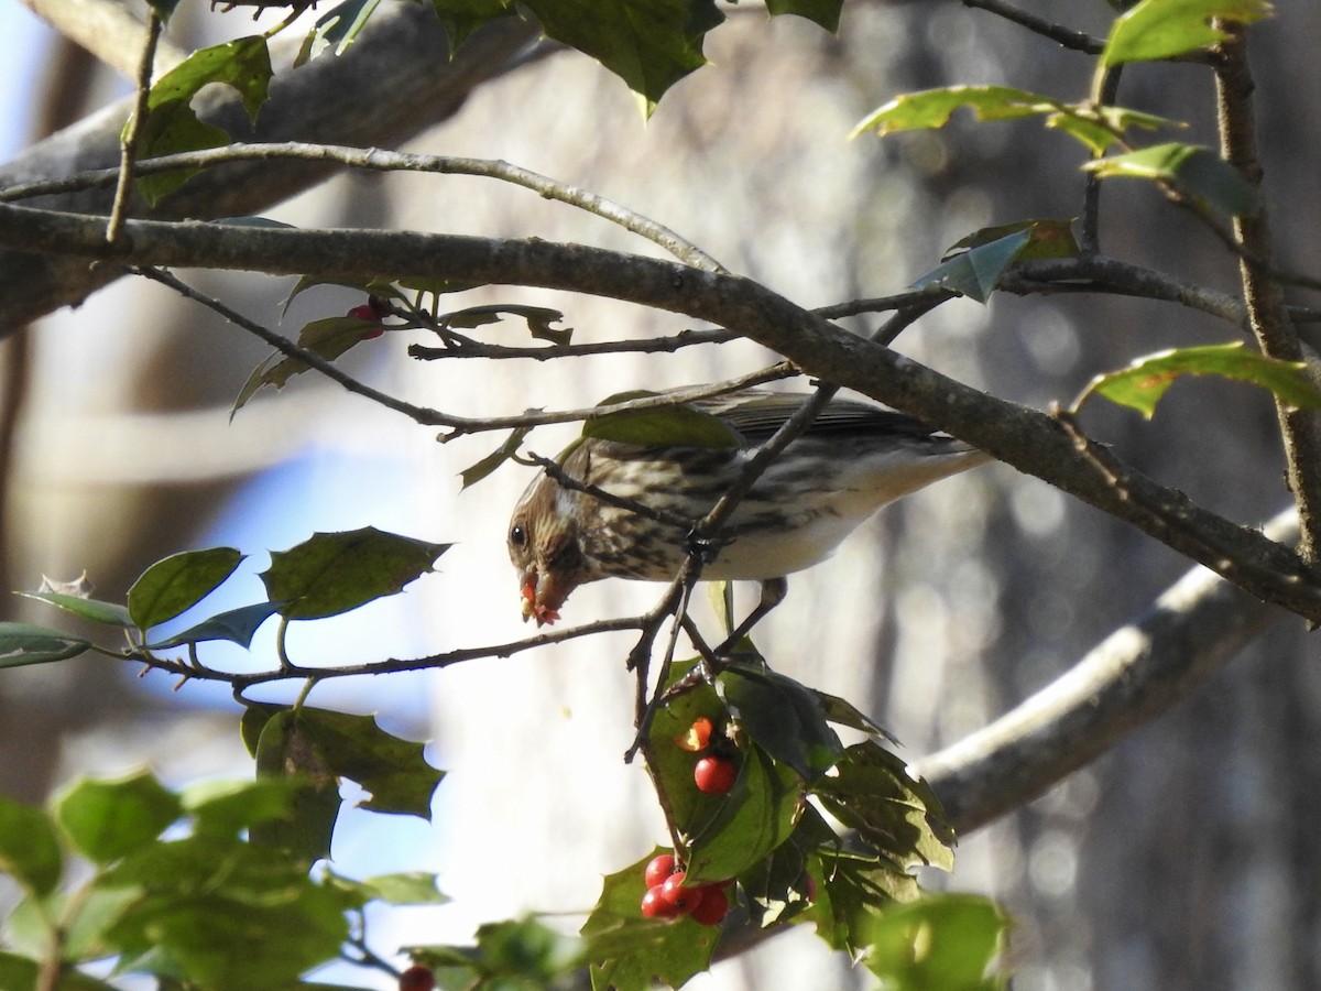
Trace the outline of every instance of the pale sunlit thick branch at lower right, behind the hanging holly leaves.
<instances>
[{"instance_id":1,"label":"pale sunlit thick branch at lower right, behind the hanging holly leaves","mask_svg":"<svg viewBox=\"0 0 1321 991\"><path fill-rule=\"evenodd\" d=\"M1297 538L1291 510L1268 527ZM1285 613L1194 568L1133 622L984 729L917 761L967 832L1005 815L1151 723Z\"/></svg>"}]
</instances>

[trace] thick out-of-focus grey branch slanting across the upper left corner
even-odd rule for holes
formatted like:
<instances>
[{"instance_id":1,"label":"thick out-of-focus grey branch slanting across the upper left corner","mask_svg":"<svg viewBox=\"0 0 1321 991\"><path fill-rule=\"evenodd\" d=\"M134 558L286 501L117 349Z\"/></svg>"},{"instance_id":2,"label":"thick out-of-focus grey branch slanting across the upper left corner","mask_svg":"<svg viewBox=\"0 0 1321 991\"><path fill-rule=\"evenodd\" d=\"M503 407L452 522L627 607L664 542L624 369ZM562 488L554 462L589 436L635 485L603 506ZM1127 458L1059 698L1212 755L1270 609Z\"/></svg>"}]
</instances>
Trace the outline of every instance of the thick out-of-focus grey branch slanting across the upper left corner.
<instances>
[{"instance_id":1,"label":"thick out-of-focus grey branch slanting across the upper left corner","mask_svg":"<svg viewBox=\"0 0 1321 991\"><path fill-rule=\"evenodd\" d=\"M343 55L316 58L281 71L255 132L227 86L205 89L193 106L198 116L238 140L396 144L450 116L477 86L519 65L536 37L534 24L505 17L477 30L449 61L445 34L429 7L383 4ZM291 62L288 49L296 49L299 42L291 38L272 45L275 62ZM139 49L140 36L135 55ZM132 102L120 100L33 145L0 168L0 188L116 165L119 135ZM133 214L168 219L258 213L321 181L333 169L330 164L308 163L229 165L196 176L155 211L135 205ZM108 215L110 202L110 192L95 190L45 205ZM89 270L77 258L0 252L0 334L81 303L119 275L115 268Z\"/></svg>"}]
</instances>

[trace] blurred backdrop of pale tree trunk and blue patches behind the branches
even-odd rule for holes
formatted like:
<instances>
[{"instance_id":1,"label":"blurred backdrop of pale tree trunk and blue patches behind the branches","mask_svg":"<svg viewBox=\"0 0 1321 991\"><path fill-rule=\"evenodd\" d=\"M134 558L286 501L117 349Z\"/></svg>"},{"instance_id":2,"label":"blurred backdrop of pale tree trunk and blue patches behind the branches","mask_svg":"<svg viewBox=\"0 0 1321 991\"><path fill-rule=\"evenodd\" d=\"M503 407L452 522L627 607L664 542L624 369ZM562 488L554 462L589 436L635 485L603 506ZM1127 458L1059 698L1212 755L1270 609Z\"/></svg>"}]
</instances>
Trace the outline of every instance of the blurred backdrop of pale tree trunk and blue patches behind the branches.
<instances>
[{"instance_id":1,"label":"blurred backdrop of pale tree trunk and blue patches behind the branches","mask_svg":"<svg viewBox=\"0 0 1321 991\"><path fill-rule=\"evenodd\" d=\"M1021 7L1046 17L1066 7L1077 18L1070 26L1094 34L1112 13L1100 0ZM849 4L839 37L794 17L768 21L754 7L727 13L707 44L713 65L679 83L650 120L617 78L584 55L556 52L495 74L404 148L505 159L601 193L810 307L900 291L979 227L1078 214L1082 152L1036 123L958 120L885 141L847 135L896 94L933 86L1005 83L1082 96L1086 57L956 4ZM170 36L184 48L211 44L248 33L247 16L202 16L185 5ZM0 0L0 32L15 53L0 66L5 157L129 91L15 0ZM1284 3L1275 21L1254 28L1251 49L1280 259L1313 274L1321 270L1321 133L1308 114L1321 103L1310 54L1318 32L1321 8ZM1190 118L1178 140L1215 143L1205 70L1129 70L1120 102ZM1226 252L1152 189L1115 182L1102 207L1108 254L1235 291ZM655 252L585 213L477 178L341 176L267 215ZM292 287L289 279L181 275L267 325L280 320ZM283 328L292 334L358 303L347 291L312 291ZM575 341L688 326L531 289L456 297L456 305L482 303L557 308ZM851 326L865 332L875 322ZM1045 407L1139 354L1235 334L1164 304L997 295L989 307L941 307L896 346L979 388ZM491 336L526 341L513 324ZM346 367L394 395L469 416L584 406L774 358L736 344L572 367L424 363L406 355L408 342L387 334L355 349ZM223 543L250 560L231 583L232 601L206 603L218 610L262 595L255 573L267 550L312 531L374 525L456 546L403 596L295 630L297 661L421 657L527 634L503 544L530 474L510 465L460 490L458 472L502 439L440 445L433 429L310 375L260 395L231 423L232 398L266 354L211 313L127 280L9 333L0 395L12 424L0 473L8 585L30 589L42 575L86 569L96 593L115 599L156 559ZM1246 387L1181 383L1152 423L1096 406L1085 427L1230 518L1255 523L1285 505L1272 410ZM527 447L552 455L573 433L539 429ZM1188 567L1045 484L991 465L889 507L832 560L795 576L758 642L777 669L853 700L917 757L1048 683ZM638 583L592 585L573 596L565 621L633 613L658 593ZM754 589L742 595L746 606ZM55 620L20 599L5 601L4 618ZM431 827L354 814L337 835L337 869L433 869L454 899L390 920L375 933L379 950L465 939L482 921L528 910L565 913L565 926L576 928L600 875L663 840L645 774L621 760L631 740L629 646L627 637L601 637L314 690L313 704L376 712L387 729L431 740L429 757L449 772ZM251 663L264 665L269 649L259 637ZM985 892L1012 914L1018 991L1321 986L1321 674L1313 654L1300 622L1277 625L1155 725L962 839L946 884ZM143 765L172 784L250 773L226 692L174 691L160 674L133 675L95 659L7 671L0 789L40 801L75 776ZM871 983L799 932L691 987Z\"/></svg>"}]
</instances>

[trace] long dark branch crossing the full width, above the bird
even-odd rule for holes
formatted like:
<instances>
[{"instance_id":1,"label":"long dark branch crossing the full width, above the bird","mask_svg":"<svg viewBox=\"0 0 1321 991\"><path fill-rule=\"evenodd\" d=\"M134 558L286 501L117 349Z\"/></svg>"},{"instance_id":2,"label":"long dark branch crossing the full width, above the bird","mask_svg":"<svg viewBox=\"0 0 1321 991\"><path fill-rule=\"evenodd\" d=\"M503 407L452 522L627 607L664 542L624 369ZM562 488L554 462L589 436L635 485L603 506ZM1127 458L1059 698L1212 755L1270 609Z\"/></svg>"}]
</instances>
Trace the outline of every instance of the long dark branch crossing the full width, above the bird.
<instances>
[{"instance_id":1,"label":"long dark branch crossing the full width, above the bird","mask_svg":"<svg viewBox=\"0 0 1321 991\"><path fill-rule=\"evenodd\" d=\"M411 231L304 231L129 221L107 246L94 217L0 205L0 244L128 264L277 275L374 275L539 285L655 307L725 326L803 373L947 429L1223 575L1259 599L1321 621L1321 584L1291 548L1194 505L1036 410L984 395L849 334L740 276L580 244ZM119 268L119 266L114 266Z\"/></svg>"}]
</instances>

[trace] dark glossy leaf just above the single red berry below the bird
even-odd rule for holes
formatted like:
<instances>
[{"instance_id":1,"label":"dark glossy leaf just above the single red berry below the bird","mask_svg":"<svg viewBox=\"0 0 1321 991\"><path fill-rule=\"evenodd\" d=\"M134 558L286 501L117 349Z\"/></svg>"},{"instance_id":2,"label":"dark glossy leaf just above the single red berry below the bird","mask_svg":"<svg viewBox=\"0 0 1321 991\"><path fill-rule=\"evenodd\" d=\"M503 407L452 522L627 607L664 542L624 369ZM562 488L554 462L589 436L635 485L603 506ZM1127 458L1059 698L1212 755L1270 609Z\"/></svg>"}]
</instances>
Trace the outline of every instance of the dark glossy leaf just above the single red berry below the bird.
<instances>
[{"instance_id":1,"label":"dark glossy leaf just above the single red berry below the bird","mask_svg":"<svg viewBox=\"0 0 1321 991\"><path fill-rule=\"evenodd\" d=\"M831 768L843 753L844 747L826 724L816 696L791 678L731 665L716 678L716 691L758 747L807 781Z\"/></svg>"}]
</instances>

